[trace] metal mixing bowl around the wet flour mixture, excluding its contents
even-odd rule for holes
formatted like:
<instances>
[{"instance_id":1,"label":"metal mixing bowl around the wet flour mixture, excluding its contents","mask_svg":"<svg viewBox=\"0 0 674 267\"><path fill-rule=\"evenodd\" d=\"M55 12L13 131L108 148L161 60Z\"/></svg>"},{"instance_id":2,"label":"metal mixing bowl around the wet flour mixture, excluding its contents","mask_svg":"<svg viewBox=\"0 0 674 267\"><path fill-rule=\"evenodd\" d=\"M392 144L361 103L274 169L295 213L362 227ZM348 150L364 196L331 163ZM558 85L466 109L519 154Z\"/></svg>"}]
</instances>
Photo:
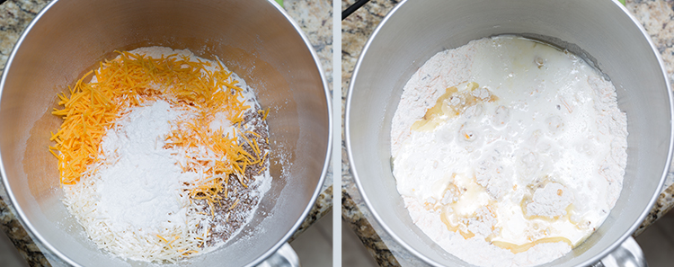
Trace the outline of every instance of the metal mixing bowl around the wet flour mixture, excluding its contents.
<instances>
[{"instance_id":1,"label":"metal mixing bowl around the wet flour mixture, excluding its contents","mask_svg":"<svg viewBox=\"0 0 674 267\"><path fill-rule=\"evenodd\" d=\"M661 191L671 159L672 97L661 58L625 7L609 0L403 1L368 40L351 78L346 145L368 208L386 232L433 265L468 263L425 236L404 208L390 165L391 119L404 84L431 56L470 40L519 34L587 58L616 86L629 137L623 191L604 224L546 265L596 263L630 236Z\"/></svg>"}]
</instances>

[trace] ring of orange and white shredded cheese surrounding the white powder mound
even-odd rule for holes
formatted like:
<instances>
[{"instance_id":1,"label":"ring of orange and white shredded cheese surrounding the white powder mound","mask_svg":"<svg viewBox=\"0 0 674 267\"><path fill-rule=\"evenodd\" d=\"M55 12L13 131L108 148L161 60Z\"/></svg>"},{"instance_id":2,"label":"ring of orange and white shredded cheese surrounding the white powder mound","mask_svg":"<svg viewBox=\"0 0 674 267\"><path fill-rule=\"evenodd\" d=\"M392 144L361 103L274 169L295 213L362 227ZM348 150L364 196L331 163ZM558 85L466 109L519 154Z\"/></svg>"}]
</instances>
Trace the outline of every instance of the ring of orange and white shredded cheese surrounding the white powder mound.
<instances>
[{"instance_id":1,"label":"ring of orange and white shredded cheese surrounding the white powder mound","mask_svg":"<svg viewBox=\"0 0 674 267\"><path fill-rule=\"evenodd\" d=\"M259 186L251 177L267 169L269 139L251 130L259 128L246 126L251 120L246 118L254 115L253 118L266 120L270 110L260 109L251 100L253 94L244 92L242 87L247 87L239 85L237 79L245 82L233 78L233 73L219 61L195 60L180 53L150 58L140 53L116 52L117 58L102 61L97 69L68 86L67 92L58 93L58 108L51 113L63 122L51 133L54 143L49 146L49 153L58 158L67 209L79 212L75 217L94 243L113 253L123 251L123 257L176 263L180 258L208 251L208 246L216 242L211 237L222 235L223 229L214 224L217 212L221 217L226 215L221 221L229 222L229 213L256 205L250 198L239 199L237 190ZM99 220L104 216L95 211L101 206L97 206L98 196L91 189L94 181L99 181L101 169L111 165L106 158L116 158L106 155L115 154L111 151L116 150L102 147L107 134L119 128L120 120L134 109L159 101L186 112L170 121L170 131L162 135L165 138L156 149L178 155L176 172L182 170L197 178L181 182L181 196L189 196L185 204L189 206L182 206L188 210L184 226L172 225L146 234L128 233L139 236L129 239L127 234L101 227L104 224ZM81 197L74 197L77 194Z\"/></svg>"}]
</instances>

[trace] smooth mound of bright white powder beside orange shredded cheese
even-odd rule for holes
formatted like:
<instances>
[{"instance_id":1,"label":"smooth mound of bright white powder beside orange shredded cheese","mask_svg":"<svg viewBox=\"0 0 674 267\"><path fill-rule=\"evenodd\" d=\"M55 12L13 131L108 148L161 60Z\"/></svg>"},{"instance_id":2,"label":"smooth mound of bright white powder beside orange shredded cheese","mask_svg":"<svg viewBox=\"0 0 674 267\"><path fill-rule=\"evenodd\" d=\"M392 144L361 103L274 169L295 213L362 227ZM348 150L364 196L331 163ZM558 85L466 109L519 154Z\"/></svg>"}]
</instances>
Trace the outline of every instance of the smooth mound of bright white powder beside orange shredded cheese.
<instances>
[{"instance_id":1,"label":"smooth mound of bright white powder beside orange shredded cheese","mask_svg":"<svg viewBox=\"0 0 674 267\"><path fill-rule=\"evenodd\" d=\"M107 210L114 231L156 231L164 224L185 225L187 193L183 182L194 182L198 174L182 173L178 155L164 148L171 121L187 116L157 101L135 108L115 130L102 139L108 167L99 172L96 191L99 209Z\"/></svg>"}]
</instances>

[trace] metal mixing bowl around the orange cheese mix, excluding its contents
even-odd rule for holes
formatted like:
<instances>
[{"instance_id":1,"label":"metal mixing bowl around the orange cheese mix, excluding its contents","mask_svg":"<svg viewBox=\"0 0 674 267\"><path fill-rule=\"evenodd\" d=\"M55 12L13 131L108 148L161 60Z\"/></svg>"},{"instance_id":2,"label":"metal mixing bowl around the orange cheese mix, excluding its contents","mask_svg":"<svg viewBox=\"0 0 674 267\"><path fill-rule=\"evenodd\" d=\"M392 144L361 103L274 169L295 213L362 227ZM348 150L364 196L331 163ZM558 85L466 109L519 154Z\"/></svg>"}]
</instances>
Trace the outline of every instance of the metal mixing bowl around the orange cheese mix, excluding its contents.
<instances>
[{"instance_id":1,"label":"metal mixing bowl around the orange cheese mix, excluding its contents","mask_svg":"<svg viewBox=\"0 0 674 267\"><path fill-rule=\"evenodd\" d=\"M323 71L306 37L278 4L264 0L91 1L50 3L22 35L0 89L4 186L25 226L67 263L131 265L103 253L59 200L57 160L47 151L60 119L56 94L114 50L191 49L220 58L270 107L274 178L253 217L217 251L180 265L260 263L283 245L313 207L327 170L331 109Z\"/></svg>"}]
</instances>

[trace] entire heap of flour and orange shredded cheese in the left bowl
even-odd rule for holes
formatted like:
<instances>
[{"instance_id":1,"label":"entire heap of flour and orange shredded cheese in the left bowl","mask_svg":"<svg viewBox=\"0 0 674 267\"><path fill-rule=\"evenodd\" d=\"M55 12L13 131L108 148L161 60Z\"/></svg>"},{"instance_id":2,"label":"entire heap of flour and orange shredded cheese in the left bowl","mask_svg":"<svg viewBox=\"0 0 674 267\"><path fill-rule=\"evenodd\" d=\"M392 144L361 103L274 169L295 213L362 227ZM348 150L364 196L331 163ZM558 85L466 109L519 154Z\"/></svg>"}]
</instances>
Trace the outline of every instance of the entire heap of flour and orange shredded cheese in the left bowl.
<instances>
[{"instance_id":1,"label":"entire heap of flour and orange shredded cheese in the left bowl","mask_svg":"<svg viewBox=\"0 0 674 267\"><path fill-rule=\"evenodd\" d=\"M250 221L270 187L270 147L267 114L243 79L188 50L150 47L120 53L77 86L64 106L83 106L91 127L67 128L64 116L56 139L91 138L82 149L93 159L67 179L79 157L56 150L63 201L96 245L175 263L225 244Z\"/></svg>"}]
</instances>

